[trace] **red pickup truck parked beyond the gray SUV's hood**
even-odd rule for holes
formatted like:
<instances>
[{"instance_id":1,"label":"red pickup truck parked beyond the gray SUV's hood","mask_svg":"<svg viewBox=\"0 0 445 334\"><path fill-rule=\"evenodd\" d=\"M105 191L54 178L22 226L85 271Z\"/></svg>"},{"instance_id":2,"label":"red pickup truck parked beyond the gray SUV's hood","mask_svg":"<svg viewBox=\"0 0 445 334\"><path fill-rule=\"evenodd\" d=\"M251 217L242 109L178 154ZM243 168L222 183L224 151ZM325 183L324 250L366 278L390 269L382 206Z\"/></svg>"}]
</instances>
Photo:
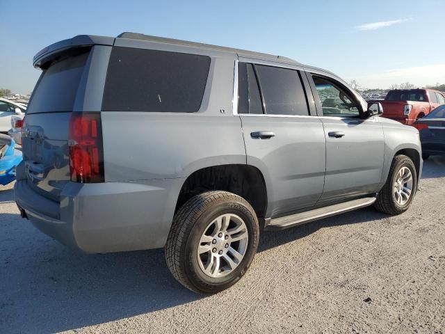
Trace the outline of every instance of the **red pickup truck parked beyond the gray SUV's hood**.
<instances>
[{"instance_id":1,"label":"red pickup truck parked beyond the gray SUV's hood","mask_svg":"<svg viewBox=\"0 0 445 334\"><path fill-rule=\"evenodd\" d=\"M437 106L445 104L445 95L432 89L395 89L389 90L383 101L383 117L412 125L416 120L428 115Z\"/></svg>"}]
</instances>

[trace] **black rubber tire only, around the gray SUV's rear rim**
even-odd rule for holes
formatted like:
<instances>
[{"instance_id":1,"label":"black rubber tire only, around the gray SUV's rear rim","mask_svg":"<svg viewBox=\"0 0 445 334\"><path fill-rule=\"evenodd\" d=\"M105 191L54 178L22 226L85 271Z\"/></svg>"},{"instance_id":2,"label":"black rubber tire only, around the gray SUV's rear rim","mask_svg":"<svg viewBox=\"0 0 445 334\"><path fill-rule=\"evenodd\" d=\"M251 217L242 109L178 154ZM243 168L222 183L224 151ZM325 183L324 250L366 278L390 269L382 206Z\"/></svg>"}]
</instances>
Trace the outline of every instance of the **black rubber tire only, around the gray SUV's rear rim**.
<instances>
[{"instance_id":1,"label":"black rubber tire only, around the gray SUV's rear rim","mask_svg":"<svg viewBox=\"0 0 445 334\"><path fill-rule=\"evenodd\" d=\"M248 230L243 260L231 273L220 278L207 276L197 260L197 246L209 223L222 214L241 217ZM216 294L234 285L249 268L257 251L259 225L252 206L227 191L209 191L188 200L175 214L165 244L165 259L175 278L193 292Z\"/></svg>"}]
</instances>

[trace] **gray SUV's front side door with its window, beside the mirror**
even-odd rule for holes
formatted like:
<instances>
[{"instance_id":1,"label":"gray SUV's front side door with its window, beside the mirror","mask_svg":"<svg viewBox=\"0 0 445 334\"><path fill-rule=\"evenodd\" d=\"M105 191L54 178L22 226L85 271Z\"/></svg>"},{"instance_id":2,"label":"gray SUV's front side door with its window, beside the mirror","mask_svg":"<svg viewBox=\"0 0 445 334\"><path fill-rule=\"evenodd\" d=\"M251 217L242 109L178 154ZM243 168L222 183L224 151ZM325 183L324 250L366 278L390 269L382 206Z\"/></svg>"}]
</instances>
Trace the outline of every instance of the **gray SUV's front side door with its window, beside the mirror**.
<instances>
[{"instance_id":1,"label":"gray SUV's front side door with its window, beside the mirror","mask_svg":"<svg viewBox=\"0 0 445 334\"><path fill-rule=\"evenodd\" d=\"M325 188L320 204L375 193L380 189L385 139L378 117L362 118L359 100L330 74L307 74L326 138ZM327 100L339 100L336 106Z\"/></svg>"}]
</instances>

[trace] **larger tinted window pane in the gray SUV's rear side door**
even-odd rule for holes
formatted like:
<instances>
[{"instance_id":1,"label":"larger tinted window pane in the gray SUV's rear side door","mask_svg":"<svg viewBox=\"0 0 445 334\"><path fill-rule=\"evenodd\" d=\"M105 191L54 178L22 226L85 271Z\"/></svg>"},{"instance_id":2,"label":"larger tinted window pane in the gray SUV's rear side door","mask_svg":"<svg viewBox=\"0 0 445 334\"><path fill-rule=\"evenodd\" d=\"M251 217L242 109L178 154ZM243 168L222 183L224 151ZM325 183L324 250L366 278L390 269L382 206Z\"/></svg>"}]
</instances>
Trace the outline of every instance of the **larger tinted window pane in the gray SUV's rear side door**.
<instances>
[{"instance_id":1,"label":"larger tinted window pane in the gray SUV's rear side door","mask_svg":"<svg viewBox=\"0 0 445 334\"><path fill-rule=\"evenodd\" d=\"M309 115L305 90L296 70L255 65L266 113L272 115Z\"/></svg>"}]
</instances>

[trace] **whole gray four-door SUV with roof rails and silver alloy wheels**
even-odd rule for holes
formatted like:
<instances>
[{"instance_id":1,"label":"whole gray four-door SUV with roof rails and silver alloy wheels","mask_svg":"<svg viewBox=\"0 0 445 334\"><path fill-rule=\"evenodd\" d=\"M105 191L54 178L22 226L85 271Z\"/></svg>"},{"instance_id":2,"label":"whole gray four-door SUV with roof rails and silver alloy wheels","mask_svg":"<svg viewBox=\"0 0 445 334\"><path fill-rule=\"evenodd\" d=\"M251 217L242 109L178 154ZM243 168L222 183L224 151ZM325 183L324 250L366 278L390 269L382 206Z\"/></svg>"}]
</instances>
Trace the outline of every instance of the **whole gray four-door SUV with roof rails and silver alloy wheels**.
<instances>
[{"instance_id":1,"label":"whole gray four-door SUV with roof rails and silver alloy wheels","mask_svg":"<svg viewBox=\"0 0 445 334\"><path fill-rule=\"evenodd\" d=\"M33 64L22 216L87 253L165 247L195 292L236 283L262 230L401 214L416 193L417 130L331 72L137 33L78 35Z\"/></svg>"}]
</instances>

